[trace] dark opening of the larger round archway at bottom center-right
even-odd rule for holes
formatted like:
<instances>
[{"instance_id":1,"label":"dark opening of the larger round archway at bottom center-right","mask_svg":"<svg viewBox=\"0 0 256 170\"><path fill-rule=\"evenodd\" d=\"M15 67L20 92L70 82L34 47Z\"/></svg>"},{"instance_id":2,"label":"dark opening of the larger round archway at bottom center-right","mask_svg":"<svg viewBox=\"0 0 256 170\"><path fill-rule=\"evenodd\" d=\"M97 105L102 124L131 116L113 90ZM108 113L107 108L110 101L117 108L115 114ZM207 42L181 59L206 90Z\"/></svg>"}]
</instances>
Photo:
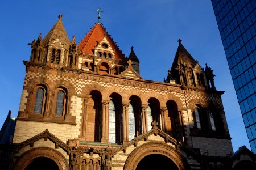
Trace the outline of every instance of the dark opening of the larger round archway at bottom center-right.
<instances>
[{"instance_id":1,"label":"dark opening of the larger round archway at bottom center-right","mask_svg":"<svg viewBox=\"0 0 256 170\"><path fill-rule=\"evenodd\" d=\"M174 162L167 156L152 154L145 156L137 165L136 170L141 169L172 169L179 170Z\"/></svg>"}]
</instances>

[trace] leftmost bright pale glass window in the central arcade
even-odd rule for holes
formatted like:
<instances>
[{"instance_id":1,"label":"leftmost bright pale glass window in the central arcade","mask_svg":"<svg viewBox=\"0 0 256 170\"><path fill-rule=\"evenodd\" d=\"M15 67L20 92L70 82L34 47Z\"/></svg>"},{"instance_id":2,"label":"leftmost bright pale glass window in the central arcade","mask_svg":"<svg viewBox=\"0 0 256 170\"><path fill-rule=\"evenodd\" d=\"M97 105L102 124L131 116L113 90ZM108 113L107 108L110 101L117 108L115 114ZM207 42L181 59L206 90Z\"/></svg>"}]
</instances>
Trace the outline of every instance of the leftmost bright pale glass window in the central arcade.
<instances>
[{"instance_id":1,"label":"leftmost bright pale glass window in the central arcade","mask_svg":"<svg viewBox=\"0 0 256 170\"><path fill-rule=\"evenodd\" d=\"M109 102L109 142L116 143L115 128L115 104L112 100Z\"/></svg>"}]
</instances>

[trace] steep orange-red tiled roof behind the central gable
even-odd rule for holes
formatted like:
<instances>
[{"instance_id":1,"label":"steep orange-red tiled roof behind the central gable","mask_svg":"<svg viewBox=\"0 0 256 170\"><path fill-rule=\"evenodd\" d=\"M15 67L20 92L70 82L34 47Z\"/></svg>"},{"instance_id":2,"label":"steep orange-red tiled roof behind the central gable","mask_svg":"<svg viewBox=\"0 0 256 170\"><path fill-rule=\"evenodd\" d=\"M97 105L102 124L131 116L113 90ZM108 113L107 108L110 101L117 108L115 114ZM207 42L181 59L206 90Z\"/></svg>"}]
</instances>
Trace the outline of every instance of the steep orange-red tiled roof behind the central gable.
<instances>
[{"instance_id":1,"label":"steep orange-red tiled roof behind the central gable","mask_svg":"<svg viewBox=\"0 0 256 170\"><path fill-rule=\"evenodd\" d=\"M100 23L95 24L84 39L82 39L82 41L79 43L79 49L82 53L94 55L93 49L98 45L99 42L101 42L102 39L104 39L104 36L108 40L111 48L114 50L115 59L125 59L125 56L122 54L121 50Z\"/></svg>"}]
</instances>

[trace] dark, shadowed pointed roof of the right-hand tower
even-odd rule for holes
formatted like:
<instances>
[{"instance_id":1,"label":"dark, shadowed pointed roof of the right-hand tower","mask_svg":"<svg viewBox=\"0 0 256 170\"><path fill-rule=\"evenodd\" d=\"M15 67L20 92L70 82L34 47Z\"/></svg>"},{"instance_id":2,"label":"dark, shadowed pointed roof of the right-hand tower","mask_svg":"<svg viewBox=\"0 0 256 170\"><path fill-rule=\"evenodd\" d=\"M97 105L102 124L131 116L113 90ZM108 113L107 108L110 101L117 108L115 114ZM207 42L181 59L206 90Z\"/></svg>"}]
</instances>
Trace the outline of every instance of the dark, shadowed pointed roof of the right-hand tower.
<instances>
[{"instance_id":1,"label":"dark, shadowed pointed roof of the right-hand tower","mask_svg":"<svg viewBox=\"0 0 256 170\"><path fill-rule=\"evenodd\" d=\"M191 54L188 53L187 49L185 49L185 47L181 44L181 40L179 39L179 46L177 48L174 62L172 63L171 71L174 71L178 65L181 65L181 63L191 67L195 66L197 62L191 56Z\"/></svg>"}]
</instances>

